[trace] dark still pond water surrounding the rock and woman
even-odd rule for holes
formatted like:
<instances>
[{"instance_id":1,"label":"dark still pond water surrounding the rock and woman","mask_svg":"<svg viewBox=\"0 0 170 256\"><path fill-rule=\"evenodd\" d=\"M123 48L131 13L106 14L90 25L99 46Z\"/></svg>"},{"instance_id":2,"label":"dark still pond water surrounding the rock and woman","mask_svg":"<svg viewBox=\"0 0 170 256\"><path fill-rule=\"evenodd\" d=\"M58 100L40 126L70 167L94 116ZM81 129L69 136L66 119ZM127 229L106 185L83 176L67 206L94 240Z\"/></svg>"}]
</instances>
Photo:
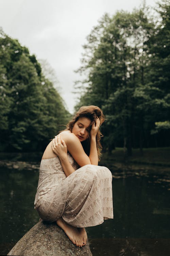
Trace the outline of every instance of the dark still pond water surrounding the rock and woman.
<instances>
[{"instance_id":1,"label":"dark still pond water surrounding the rock and woman","mask_svg":"<svg viewBox=\"0 0 170 256\"><path fill-rule=\"evenodd\" d=\"M2 160L3 158L3 160ZM40 156L0 156L0 255L38 222L34 197ZM170 255L170 172L115 170L114 219L87 228L93 255Z\"/></svg>"}]
</instances>

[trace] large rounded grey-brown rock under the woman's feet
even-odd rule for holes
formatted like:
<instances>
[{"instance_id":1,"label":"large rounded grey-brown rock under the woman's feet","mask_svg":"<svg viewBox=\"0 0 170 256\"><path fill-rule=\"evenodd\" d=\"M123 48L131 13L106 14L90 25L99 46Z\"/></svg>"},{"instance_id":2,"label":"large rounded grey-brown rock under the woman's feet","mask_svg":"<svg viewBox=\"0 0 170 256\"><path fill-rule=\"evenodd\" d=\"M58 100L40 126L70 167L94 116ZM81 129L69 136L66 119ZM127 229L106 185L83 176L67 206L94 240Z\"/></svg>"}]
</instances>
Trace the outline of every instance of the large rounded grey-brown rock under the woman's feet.
<instances>
[{"instance_id":1,"label":"large rounded grey-brown rock under the woman's feet","mask_svg":"<svg viewBox=\"0 0 170 256\"><path fill-rule=\"evenodd\" d=\"M77 247L56 223L38 222L7 255L23 256L92 256L89 243Z\"/></svg>"}]
</instances>

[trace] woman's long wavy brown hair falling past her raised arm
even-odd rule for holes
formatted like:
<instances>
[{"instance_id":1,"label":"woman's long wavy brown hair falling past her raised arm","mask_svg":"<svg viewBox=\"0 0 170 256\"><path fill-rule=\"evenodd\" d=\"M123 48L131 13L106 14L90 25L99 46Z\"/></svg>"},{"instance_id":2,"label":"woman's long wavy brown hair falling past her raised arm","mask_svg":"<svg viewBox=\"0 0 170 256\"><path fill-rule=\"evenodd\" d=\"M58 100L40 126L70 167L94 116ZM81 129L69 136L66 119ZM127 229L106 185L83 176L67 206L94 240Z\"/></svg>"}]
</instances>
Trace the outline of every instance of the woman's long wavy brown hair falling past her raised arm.
<instances>
[{"instance_id":1,"label":"woman's long wavy brown hair falling past her raised arm","mask_svg":"<svg viewBox=\"0 0 170 256\"><path fill-rule=\"evenodd\" d=\"M102 110L98 106L82 106L76 115L70 120L70 122L67 124L66 130L70 130L72 132L72 128L74 124L78 121L80 117L86 117L91 120L90 128L91 125L96 121L97 118L100 119L100 125L103 124L105 118L103 115ZM101 150L102 150L102 145L100 143L100 139L103 137L102 133L100 130L98 130L96 134L96 146L97 146L97 153L98 153L98 159L100 161L100 156L101 156ZM90 137L87 138L87 140L82 141L82 146L85 151L85 153L89 156L90 153Z\"/></svg>"}]
</instances>

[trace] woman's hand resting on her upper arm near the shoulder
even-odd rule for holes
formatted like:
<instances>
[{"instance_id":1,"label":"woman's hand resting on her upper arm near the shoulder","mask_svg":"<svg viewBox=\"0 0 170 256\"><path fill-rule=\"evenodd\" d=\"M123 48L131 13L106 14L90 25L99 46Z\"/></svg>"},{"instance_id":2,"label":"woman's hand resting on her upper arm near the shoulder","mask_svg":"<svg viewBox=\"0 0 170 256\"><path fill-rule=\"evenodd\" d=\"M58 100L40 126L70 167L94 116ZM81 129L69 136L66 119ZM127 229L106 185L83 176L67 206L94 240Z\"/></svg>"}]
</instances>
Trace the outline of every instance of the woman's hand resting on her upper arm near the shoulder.
<instances>
[{"instance_id":1,"label":"woman's hand resting on her upper arm near the shoulder","mask_svg":"<svg viewBox=\"0 0 170 256\"><path fill-rule=\"evenodd\" d=\"M60 134L53 139L52 150L59 158L65 158L67 156L67 145L65 141L60 138Z\"/></svg>"}]
</instances>

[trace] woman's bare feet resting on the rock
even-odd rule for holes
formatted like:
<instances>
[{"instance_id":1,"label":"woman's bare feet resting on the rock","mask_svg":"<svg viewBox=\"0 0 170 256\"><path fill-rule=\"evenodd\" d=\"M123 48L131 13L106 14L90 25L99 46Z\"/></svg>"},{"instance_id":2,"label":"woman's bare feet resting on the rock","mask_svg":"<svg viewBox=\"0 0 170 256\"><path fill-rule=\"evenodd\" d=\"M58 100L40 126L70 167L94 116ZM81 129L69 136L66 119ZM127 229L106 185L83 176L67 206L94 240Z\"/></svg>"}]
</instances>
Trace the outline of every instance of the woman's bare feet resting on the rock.
<instances>
[{"instance_id":1,"label":"woman's bare feet resting on the rock","mask_svg":"<svg viewBox=\"0 0 170 256\"><path fill-rule=\"evenodd\" d=\"M76 228L67 224L62 217L60 219L57 219L56 223L64 230L64 232L73 244L76 244L79 247L82 247L86 244L87 234L85 235L85 229L83 230L83 228Z\"/></svg>"}]
</instances>

